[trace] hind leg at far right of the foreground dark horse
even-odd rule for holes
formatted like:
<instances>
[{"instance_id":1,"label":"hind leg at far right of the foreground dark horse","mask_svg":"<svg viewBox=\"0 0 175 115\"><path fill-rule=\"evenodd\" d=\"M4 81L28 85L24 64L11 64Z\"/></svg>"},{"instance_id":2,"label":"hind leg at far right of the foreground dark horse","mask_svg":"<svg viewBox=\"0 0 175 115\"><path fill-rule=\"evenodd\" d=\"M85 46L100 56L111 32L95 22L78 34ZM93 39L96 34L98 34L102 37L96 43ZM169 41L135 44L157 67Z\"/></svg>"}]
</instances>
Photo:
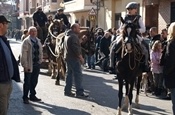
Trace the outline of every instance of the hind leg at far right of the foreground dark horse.
<instances>
[{"instance_id":1,"label":"hind leg at far right of the foreground dark horse","mask_svg":"<svg viewBox=\"0 0 175 115\"><path fill-rule=\"evenodd\" d=\"M135 103L136 103L136 108L140 108L140 105L139 105L139 92L140 92L140 84L141 84L141 81L142 81L142 74L138 76L137 78L137 84L136 84L136 98L135 98Z\"/></svg>"}]
</instances>

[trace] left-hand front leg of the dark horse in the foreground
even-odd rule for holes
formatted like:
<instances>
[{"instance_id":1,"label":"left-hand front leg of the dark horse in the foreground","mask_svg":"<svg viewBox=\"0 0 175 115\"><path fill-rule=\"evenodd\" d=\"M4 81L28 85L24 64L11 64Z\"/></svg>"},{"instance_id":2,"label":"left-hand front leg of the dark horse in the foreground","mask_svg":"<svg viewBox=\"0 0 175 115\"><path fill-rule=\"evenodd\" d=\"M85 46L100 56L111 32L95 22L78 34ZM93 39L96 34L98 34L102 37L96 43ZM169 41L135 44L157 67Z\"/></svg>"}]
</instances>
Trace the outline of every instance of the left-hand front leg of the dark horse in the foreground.
<instances>
[{"instance_id":1,"label":"left-hand front leg of the dark horse in the foreground","mask_svg":"<svg viewBox=\"0 0 175 115\"><path fill-rule=\"evenodd\" d=\"M123 78L121 78L121 75L118 74L118 83L119 83L119 92L118 92L118 98L119 98L119 104L118 104L118 114L121 115L121 104L122 104L122 98L123 98Z\"/></svg>"}]
</instances>

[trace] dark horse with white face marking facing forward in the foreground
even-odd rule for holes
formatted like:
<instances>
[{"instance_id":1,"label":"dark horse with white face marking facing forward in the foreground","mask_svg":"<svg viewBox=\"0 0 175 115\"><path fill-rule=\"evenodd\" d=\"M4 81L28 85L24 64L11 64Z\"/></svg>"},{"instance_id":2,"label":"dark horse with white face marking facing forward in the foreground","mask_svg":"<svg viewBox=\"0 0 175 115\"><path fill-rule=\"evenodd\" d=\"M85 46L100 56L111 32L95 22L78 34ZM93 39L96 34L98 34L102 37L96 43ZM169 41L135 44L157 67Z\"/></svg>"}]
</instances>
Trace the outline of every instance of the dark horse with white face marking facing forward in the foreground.
<instances>
[{"instance_id":1,"label":"dark horse with white face marking facing forward in the foreground","mask_svg":"<svg viewBox=\"0 0 175 115\"><path fill-rule=\"evenodd\" d=\"M137 17L132 22L126 22L121 18L122 33L121 39L118 45L120 50L117 56L116 62L116 73L118 76L119 83L119 104L118 104L118 115L121 115L121 103L123 98L123 85L126 85L126 97L129 99L128 114L132 114L132 98L133 98L133 86L136 79L142 72L141 66L144 62L144 55L142 48L139 43L138 32L136 29Z\"/></svg>"}]
</instances>

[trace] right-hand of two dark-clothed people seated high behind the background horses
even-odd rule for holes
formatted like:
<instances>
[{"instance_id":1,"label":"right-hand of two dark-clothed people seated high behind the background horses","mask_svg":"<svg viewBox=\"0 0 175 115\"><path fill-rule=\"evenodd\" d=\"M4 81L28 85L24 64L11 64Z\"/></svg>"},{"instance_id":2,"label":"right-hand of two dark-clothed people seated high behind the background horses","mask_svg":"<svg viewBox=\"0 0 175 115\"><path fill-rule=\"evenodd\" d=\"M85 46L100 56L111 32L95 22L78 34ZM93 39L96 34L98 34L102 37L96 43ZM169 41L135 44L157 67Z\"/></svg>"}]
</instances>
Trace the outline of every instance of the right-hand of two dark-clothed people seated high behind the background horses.
<instances>
[{"instance_id":1,"label":"right-hand of two dark-clothed people seated high behind the background horses","mask_svg":"<svg viewBox=\"0 0 175 115\"><path fill-rule=\"evenodd\" d=\"M64 14L64 9L63 8L59 8L57 10L57 13L55 14L54 19L59 19L59 20L63 20L66 28L70 28L70 23L67 19L67 16Z\"/></svg>"}]
</instances>

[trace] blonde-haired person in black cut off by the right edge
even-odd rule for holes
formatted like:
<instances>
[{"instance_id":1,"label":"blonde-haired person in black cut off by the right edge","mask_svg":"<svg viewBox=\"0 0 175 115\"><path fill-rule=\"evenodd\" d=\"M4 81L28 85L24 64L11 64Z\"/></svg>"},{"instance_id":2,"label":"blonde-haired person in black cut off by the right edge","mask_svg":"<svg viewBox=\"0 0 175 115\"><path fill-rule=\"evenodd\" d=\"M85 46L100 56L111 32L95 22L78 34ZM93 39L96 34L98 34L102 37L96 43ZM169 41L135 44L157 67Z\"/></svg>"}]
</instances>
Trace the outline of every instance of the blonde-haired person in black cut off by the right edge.
<instances>
[{"instance_id":1,"label":"blonde-haired person in black cut off by the right edge","mask_svg":"<svg viewBox=\"0 0 175 115\"><path fill-rule=\"evenodd\" d=\"M171 92L173 115L175 115L175 22L168 28L167 47L163 74L165 86Z\"/></svg>"}]
</instances>

